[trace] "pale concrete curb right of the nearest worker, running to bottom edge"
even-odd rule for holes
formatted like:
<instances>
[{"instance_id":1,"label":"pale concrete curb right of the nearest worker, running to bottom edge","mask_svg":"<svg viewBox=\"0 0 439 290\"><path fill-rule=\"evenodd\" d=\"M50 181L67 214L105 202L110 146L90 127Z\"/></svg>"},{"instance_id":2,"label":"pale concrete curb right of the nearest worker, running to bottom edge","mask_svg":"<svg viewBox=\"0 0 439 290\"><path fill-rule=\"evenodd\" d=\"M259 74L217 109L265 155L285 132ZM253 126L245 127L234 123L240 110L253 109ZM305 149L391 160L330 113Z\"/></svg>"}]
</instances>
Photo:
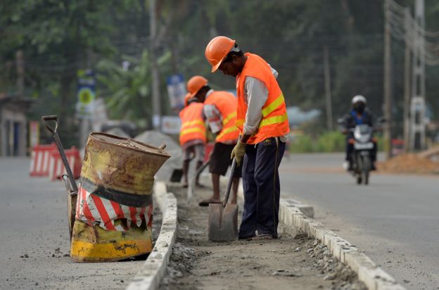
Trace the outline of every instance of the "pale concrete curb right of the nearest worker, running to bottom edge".
<instances>
[{"instance_id":1,"label":"pale concrete curb right of the nearest worker, running to bottom edge","mask_svg":"<svg viewBox=\"0 0 439 290\"><path fill-rule=\"evenodd\" d=\"M279 208L279 221L286 226L297 227L310 237L314 237L325 244L332 255L343 264L348 265L357 272L358 279L371 290L405 290L393 277L378 267L368 256L361 253L350 242L338 237L334 232L322 224L307 217L300 210L300 203L281 198Z\"/></svg>"}]
</instances>

